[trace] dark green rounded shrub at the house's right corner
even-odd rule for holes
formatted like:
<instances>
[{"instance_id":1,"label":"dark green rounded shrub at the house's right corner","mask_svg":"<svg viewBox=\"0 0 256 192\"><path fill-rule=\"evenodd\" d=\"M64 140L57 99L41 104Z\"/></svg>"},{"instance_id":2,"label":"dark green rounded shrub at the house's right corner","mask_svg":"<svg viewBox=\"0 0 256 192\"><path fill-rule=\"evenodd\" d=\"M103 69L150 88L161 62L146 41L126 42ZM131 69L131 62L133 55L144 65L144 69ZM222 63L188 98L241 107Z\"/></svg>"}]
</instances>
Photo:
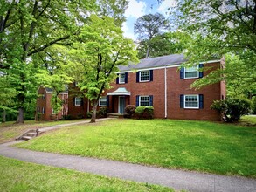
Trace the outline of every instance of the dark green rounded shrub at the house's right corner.
<instances>
[{"instance_id":1,"label":"dark green rounded shrub at the house's right corner","mask_svg":"<svg viewBox=\"0 0 256 192\"><path fill-rule=\"evenodd\" d=\"M211 109L221 113L225 121L236 122L240 119L242 115L251 112L250 101L246 99L225 99L225 100L215 100L211 104Z\"/></svg>"}]
</instances>

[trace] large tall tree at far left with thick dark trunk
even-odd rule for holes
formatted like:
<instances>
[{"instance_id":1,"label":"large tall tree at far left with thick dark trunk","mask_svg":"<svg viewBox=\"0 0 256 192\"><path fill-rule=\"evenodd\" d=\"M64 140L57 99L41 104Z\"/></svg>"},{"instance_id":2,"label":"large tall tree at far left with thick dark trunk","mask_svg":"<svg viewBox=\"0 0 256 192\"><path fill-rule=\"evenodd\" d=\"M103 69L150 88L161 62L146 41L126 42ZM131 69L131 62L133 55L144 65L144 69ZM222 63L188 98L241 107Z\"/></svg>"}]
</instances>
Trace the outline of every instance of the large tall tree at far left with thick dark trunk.
<instances>
[{"instance_id":1,"label":"large tall tree at far left with thick dark trunk","mask_svg":"<svg viewBox=\"0 0 256 192\"><path fill-rule=\"evenodd\" d=\"M18 116L24 122L24 103L35 89L31 82L36 72L32 56L54 44L66 44L85 21L93 0L25 1L1 0L0 7L0 69L16 75ZM32 90L30 89L32 88Z\"/></svg>"}]
</instances>

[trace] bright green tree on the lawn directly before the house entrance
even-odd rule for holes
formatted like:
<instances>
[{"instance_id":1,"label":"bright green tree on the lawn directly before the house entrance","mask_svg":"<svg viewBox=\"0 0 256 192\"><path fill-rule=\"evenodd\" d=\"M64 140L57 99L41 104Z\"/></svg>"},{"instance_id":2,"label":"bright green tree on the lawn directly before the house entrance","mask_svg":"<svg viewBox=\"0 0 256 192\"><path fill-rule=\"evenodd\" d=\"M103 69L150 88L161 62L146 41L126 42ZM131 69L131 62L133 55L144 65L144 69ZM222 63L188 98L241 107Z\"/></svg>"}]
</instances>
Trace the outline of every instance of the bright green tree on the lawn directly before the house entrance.
<instances>
[{"instance_id":1,"label":"bright green tree on the lawn directly before the house entrance","mask_svg":"<svg viewBox=\"0 0 256 192\"><path fill-rule=\"evenodd\" d=\"M90 24L84 26L79 42L73 47L71 59L78 67L83 67L80 90L91 100L91 122L95 122L100 95L116 78L118 65L138 62L135 45L131 39L123 38L121 28L114 24L113 18L92 15Z\"/></svg>"}]
</instances>

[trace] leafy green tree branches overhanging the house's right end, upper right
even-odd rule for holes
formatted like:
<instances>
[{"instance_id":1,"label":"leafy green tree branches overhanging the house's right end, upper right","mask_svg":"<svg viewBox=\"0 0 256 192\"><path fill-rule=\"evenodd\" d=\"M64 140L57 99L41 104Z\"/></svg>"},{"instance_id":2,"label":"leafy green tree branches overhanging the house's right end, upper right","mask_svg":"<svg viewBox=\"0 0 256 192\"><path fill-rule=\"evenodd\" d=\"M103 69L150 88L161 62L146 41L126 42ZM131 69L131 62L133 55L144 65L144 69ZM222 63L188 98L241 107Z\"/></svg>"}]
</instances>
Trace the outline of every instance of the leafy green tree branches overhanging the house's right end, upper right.
<instances>
[{"instance_id":1,"label":"leafy green tree branches overhanging the house's right end, upper right","mask_svg":"<svg viewBox=\"0 0 256 192\"><path fill-rule=\"evenodd\" d=\"M194 87L225 79L229 90L255 94L255 1L185 0L178 4L176 17L181 29L193 36L187 48L190 64L226 55L226 68L200 79Z\"/></svg>"}]
</instances>

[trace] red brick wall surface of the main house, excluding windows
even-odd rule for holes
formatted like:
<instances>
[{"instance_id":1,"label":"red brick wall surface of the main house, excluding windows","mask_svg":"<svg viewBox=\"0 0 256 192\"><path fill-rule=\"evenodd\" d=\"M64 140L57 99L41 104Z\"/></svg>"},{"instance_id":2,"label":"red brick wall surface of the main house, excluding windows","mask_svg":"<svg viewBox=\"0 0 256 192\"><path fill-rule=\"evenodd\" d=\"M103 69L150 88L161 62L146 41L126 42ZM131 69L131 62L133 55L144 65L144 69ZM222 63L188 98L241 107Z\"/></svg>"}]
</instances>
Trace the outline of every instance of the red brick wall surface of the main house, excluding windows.
<instances>
[{"instance_id":1,"label":"red brick wall surface of the main house, excluding windows","mask_svg":"<svg viewBox=\"0 0 256 192\"><path fill-rule=\"evenodd\" d=\"M219 63L211 63L207 66L219 67ZM204 72L204 76L209 72ZM213 100L221 99L221 92L225 93L223 84L218 83L206 86L200 90L190 89L190 84L195 79L180 79L180 73L177 67L167 68L167 118L183 120L220 120L218 113L211 110L210 106ZM221 86L222 85L222 86ZM153 95L154 116L156 118L165 118L164 113L164 69L153 71L153 81L136 83L136 73L128 72L127 84L115 84L113 88L107 90L105 94L114 92L119 87L125 87L131 92L129 103L135 105L136 95ZM222 87L222 88L221 88ZM222 91L221 91L222 90ZM183 109L180 108L180 94L204 94L204 109ZM110 112L116 113L118 99L110 97ZM128 99L127 99L128 100ZM112 103L114 101L114 104ZM113 108L114 106L114 108Z\"/></svg>"}]
</instances>

